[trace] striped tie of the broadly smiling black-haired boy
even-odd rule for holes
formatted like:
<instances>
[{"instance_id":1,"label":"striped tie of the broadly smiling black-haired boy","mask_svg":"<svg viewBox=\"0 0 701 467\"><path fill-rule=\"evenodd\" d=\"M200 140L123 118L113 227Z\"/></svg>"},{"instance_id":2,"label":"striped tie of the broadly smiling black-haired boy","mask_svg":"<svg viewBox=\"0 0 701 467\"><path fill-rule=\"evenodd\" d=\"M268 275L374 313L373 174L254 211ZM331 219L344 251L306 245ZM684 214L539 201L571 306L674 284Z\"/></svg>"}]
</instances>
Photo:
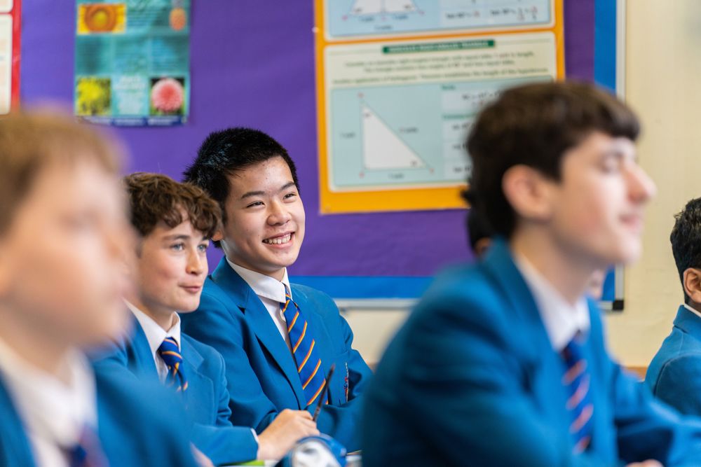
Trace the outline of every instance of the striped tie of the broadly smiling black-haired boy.
<instances>
[{"instance_id":1,"label":"striped tie of the broadly smiling black-haired boy","mask_svg":"<svg viewBox=\"0 0 701 467\"><path fill-rule=\"evenodd\" d=\"M304 319L304 314L292 301L290 293L285 293L285 304L281 305L285 321L287 321L287 334L290 335L292 345L292 356L297 365L299 381L304 390L307 407L314 403L320 396L326 377L321 365L321 358L318 354L316 341L309 326Z\"/></svg>"}]
</instances>

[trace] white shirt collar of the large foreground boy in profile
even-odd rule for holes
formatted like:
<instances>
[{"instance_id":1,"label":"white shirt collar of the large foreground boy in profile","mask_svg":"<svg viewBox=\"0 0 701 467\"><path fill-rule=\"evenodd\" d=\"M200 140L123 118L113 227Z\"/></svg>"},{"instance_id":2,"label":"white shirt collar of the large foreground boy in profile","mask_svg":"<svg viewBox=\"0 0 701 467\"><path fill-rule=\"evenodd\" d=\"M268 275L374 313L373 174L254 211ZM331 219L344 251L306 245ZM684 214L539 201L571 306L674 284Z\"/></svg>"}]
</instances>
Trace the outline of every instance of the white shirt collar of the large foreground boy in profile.
<instances>
[{"instance_id":1,"label":"white shirt collar of the large foreground boy in profile","mask_svg":"<svg viewBox=\"0 0 701 467\"><path fill-rule=\"evenodd\" d=\"M536 300L540 319L555 350L562 351L577 333L589 330L589 307L584 296L571 305L529 260L515 254L514 263Z\"/></svg>"}]
</instances>

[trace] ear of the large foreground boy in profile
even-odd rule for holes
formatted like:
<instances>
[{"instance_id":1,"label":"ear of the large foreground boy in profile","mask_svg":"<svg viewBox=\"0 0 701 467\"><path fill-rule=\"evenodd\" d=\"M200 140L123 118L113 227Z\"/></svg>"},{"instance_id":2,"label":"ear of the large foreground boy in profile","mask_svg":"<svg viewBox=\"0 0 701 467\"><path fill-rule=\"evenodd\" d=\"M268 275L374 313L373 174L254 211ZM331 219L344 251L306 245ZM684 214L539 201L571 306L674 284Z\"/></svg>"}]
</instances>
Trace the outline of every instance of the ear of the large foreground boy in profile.
<instances>
[{"instance_id":1,"label":"ear of the large foreground boy in profile","mask_svg":"<svg viewBox=\"0 0 701 467\"><path fill-rule=\"evenodd\" d=\"M552 214L552 183L533 167L515 165L504 173L501 188L519 217L546 221Z\"/></svg>"}]
</instances>

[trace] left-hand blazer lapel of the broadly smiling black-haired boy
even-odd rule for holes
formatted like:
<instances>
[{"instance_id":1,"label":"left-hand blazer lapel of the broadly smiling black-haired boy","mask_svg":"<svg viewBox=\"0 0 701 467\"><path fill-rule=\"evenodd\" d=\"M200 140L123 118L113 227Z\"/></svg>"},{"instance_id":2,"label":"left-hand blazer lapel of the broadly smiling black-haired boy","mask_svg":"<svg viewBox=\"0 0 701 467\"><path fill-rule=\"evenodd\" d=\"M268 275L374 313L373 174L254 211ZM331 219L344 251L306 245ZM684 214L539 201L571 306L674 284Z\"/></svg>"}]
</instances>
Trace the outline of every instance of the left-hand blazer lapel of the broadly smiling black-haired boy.
<instances>
[{"instance_id":1,"label":"left-hand blazer lapel of the broadly smiling black-haired boy","mask_svg":"<svg viewBox=\"0 0 701 467\"><path fill-rule=\"evenodd\" d=\"M287 378L287 382L292 386L294 395L300 408L304 408L306 399L304 391L299 381L297 367L294 365L294 358L287 348L287 344L280 331L273 323L268 310L263 302L258 298L252 288L243 280L236 271L229 265L226 258L219 261L215 272L212 273L212 280L224 290L229 298L238 306L244 314L246 322L255 333L259 342L273 356L280 371Z\"/></svg>"}]
</instances>

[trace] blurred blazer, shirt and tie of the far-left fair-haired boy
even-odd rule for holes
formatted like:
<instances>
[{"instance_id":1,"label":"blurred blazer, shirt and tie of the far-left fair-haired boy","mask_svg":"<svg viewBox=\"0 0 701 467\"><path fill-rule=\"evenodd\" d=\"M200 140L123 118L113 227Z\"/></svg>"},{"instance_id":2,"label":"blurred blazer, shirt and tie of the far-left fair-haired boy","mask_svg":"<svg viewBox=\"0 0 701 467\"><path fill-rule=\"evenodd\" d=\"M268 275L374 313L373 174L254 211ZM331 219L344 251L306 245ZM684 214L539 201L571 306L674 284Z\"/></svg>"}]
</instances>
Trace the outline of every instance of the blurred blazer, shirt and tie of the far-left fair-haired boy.
<instances>
[{"instance_id":1,"label":"blurred blazer, shirt and tie of the far-left fair-haired boy","mask_svg":"<svg viewBox=\"0 0 701 467\"><path fill-rule=\"evenodd\" d=\"M95 466L196 466L189 424L162 388L142 393L78 351L61 365L66 382L0 342L0 465L68 467L88 456Z\"/></svg>"}]
</instances>

